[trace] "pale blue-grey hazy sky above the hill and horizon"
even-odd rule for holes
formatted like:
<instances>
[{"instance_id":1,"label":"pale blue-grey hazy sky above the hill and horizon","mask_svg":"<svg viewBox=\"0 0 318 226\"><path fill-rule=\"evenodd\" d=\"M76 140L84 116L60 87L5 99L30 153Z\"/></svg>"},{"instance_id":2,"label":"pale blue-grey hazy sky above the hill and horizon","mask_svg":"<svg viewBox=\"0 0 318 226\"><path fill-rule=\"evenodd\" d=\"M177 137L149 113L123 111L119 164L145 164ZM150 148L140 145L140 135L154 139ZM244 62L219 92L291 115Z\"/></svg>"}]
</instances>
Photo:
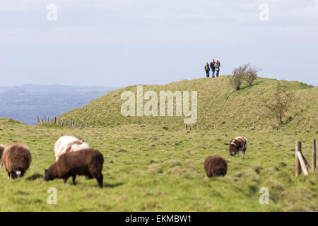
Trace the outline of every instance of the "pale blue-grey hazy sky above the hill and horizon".
<instances>
[{"instance_id":1,"label":"pale blue-grey hazy sky above the hill and horizon","mask_svg":"<svg viewBox=\"0 0 318 226\"><path fill-rule=\"evenodd\" d=\"M318 85L317 54L318 0L0 1L0 86L166 84L211 59Z\"/></svg>"}]
</instances>

